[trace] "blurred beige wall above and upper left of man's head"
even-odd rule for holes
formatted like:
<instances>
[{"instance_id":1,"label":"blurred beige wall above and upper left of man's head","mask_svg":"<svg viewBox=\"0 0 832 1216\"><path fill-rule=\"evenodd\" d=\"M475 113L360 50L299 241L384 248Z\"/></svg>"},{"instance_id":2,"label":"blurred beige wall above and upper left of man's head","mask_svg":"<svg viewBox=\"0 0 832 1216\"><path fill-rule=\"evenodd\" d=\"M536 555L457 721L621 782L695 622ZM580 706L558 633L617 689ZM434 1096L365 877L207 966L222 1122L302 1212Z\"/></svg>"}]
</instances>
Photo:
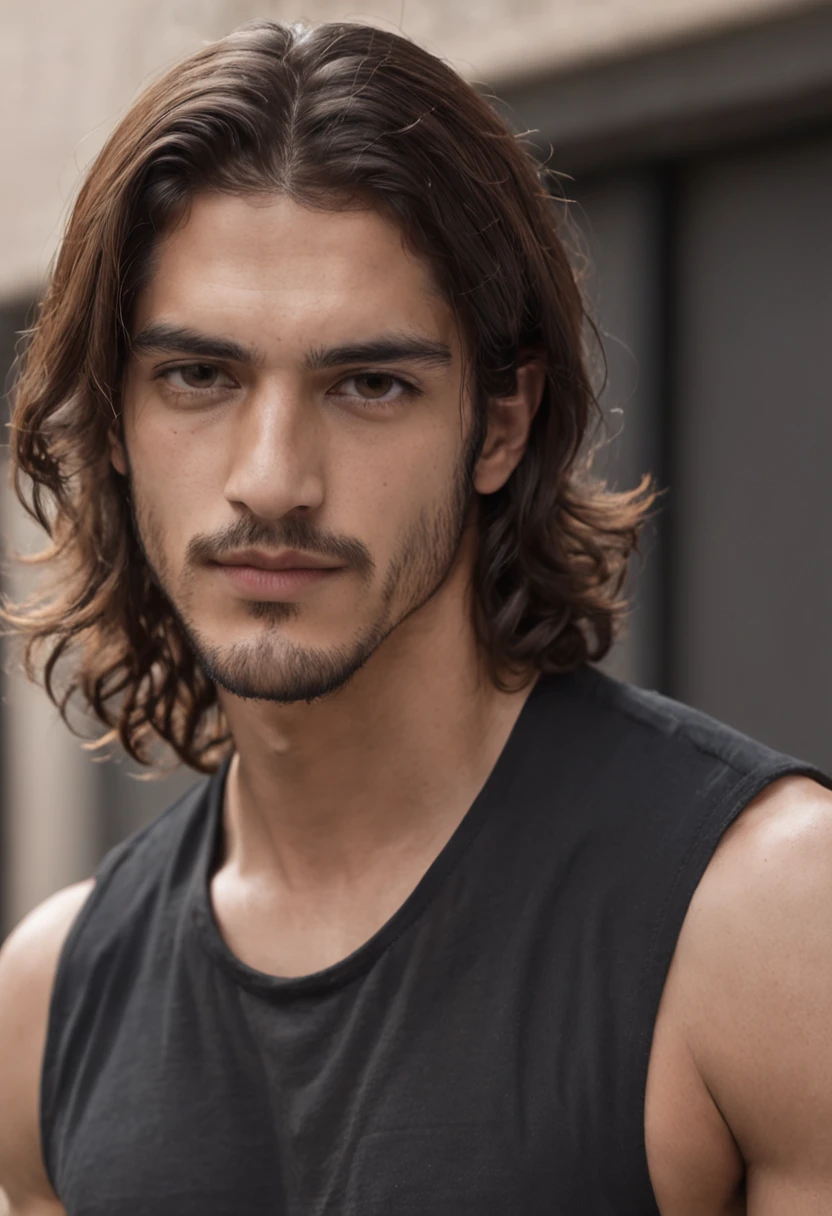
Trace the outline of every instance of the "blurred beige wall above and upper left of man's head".
<instances>
[{"instance_id":1,"label":"blurred beige wall above and upper left of man's head","mask_svg":"<svg viewBox=\"0 0 832 1216\"><path fill-rule=\"evenodd\" d=\"M817 0L366 0L406 34L502 88L684 43ZM21 0L0 10L0 300L30 292L79 175L118 114L179 56L255 16L356 19L345 0Z\"/></svg>"}]
</instances>

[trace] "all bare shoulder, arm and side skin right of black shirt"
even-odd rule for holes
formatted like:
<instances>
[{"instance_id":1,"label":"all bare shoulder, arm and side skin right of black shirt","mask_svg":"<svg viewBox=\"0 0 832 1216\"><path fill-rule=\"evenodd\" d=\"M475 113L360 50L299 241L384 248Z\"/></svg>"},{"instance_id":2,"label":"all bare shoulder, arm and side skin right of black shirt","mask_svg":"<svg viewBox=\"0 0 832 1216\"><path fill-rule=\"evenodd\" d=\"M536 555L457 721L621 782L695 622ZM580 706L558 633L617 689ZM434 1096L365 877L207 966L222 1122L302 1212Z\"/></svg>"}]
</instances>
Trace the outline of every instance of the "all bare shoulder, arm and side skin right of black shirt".
<instances>
[{"instance_id":1,"label":"all bare shoulder, arm and side skin right of black shirt","mask_svg":"<svg viewBox=\"0 0 832 1216\"><path fill-rule=\"evenodd\" d=\"M725 833L665 984L646 1119L663 1212L832 1211L831 930L832 796L783 778Z\"/></svg>"}]
</instances>

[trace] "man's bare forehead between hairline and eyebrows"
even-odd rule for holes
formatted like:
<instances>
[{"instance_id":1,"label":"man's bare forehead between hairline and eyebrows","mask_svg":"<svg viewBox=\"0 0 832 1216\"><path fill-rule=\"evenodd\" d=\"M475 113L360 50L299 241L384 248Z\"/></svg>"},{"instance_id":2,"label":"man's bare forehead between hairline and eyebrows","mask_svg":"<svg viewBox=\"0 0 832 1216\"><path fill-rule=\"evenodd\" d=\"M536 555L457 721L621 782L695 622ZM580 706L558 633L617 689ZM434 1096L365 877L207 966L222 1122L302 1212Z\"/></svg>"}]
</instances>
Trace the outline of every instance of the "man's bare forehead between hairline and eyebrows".
<instances>
[{"instance_id":1,"label":"man's bare forehead between hairline and eyebrows","mask_svg":"<svg viewBox=\"0 0 832 1216\"><path fill-rule=\"evenodd\" d=\"M285 196L195 198L154 250L134 332L159 317L212 332L244 328L263 349L378 330L418 330L450 344L455 337L428 263L392 220Z\"/></svg>"}]
</instances>

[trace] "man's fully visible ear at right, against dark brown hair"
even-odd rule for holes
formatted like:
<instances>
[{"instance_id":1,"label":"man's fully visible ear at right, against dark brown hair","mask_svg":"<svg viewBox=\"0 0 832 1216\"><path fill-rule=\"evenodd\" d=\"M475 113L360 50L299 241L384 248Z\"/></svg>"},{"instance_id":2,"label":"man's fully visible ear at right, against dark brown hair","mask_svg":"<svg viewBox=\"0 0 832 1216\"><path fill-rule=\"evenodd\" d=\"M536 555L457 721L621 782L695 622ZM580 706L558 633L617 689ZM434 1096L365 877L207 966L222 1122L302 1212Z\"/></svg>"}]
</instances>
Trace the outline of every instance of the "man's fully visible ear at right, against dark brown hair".
<instances>
[{"instance_id":1,"label":"man's fully visible ear at right, against dark brown hair","mask_svg":"<svg viewBox=\"0 0 832 1216\"><path fill-rule=\"evenodd\" d=\"M500 490L519 465L545 387L546 367L543 360L529 358L517 368L517 387L512 395L491 398L488 402L485 443L473 472L478 494Z\"/></svg>"}]
</instances>

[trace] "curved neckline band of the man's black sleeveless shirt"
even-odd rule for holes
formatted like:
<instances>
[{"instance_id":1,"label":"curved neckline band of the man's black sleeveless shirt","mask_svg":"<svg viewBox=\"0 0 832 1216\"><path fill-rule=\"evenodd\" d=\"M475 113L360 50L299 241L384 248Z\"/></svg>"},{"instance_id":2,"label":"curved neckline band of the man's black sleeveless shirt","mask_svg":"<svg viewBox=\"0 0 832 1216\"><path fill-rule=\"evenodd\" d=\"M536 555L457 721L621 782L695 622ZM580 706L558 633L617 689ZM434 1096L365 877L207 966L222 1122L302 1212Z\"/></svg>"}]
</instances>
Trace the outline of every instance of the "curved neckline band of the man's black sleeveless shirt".
<instances>
[{"instance_id":1,"label":"curved neckline band of the man's black sleeveless shirt","mask_svg":"<svg viewBox=\"0 0 832 1216\"><path fill-rule=\"evenodd\" d=\"M535 681L479 793L410 895L367 941L337 963L308 975L282 976L257 970L234 953L220 933L210 902L210 878L221 855L223 801L231 762L230 758L226 759L210 779L206 792L206 831L201 839L191 900L197 934L213 962L238 986L272 1001L291 1001L313 995L324 996L365 974L384 951L421 917L437 890L459 865L489 814L510 796L517 772L517 760L528 733L534 705L544 686L551 679L544 674Z\"/></svg>"}]
</instances>

